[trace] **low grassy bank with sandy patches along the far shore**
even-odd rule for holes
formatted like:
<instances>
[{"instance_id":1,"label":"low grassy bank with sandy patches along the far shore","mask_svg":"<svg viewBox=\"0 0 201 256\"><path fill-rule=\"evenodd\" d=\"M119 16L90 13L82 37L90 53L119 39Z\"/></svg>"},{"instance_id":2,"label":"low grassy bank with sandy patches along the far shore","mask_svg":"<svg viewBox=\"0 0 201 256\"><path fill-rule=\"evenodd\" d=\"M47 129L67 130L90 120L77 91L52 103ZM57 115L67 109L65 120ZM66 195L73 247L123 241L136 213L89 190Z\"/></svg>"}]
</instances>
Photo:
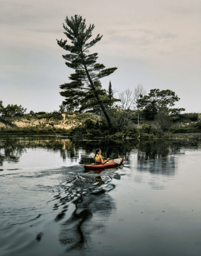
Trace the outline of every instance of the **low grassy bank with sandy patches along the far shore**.
<instances>
[{"instance_id":1,"label":"low grassy bank with sandy patches along the far shore","mask_svg":"<svg viewBox=\"0 0 201 256\"><path fill-rule=\"evenodd\" d=\"M115 121L116 119L114 119ZM45 113L25 114L21 117L1 120L0 133L13 135L55 134L71 137L118 138L173 138L178 133L201 132L201 114L182 114L172 118L165 129L156 121L128 119L121 128L109 130L102 116L93 113Z\"/></svg>"}]
</instances>

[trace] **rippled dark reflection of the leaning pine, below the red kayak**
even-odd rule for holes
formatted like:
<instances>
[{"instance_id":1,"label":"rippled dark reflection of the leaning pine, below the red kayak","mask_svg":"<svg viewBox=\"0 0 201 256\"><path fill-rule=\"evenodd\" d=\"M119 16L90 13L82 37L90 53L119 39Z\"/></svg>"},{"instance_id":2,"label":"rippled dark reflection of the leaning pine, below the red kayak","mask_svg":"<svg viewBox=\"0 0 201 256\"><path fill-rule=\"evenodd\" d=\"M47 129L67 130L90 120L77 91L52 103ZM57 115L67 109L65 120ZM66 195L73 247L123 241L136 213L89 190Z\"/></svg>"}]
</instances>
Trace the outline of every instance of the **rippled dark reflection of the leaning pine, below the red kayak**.
<instances>
[{"instance_id":1,"label":"rippled dark reflection of the leaning pine, below the red kayak","mask_svg":"<svg viewBox=\"0 0 201 256\"><path fill-rule=\"evenodd\" d=\"M71 199L72 194L75 196L73 200L75 210L69 219L60 224L59 242L65 246L66 252L86 249L90 235L96 231L105 232L104 222L107 222L116 210L113 198L106 193L115 188L111 183L112 178L96 176L91 181L82 179L82 185L80 181L80 178L76 178L72 184L71 180L71 191L66 190L68 196L60 198L60 203L65 205ZM64 219L67 208L68 205L63 206L63 211L55 218L56 222Z\"/></svg>"}]
</instances>

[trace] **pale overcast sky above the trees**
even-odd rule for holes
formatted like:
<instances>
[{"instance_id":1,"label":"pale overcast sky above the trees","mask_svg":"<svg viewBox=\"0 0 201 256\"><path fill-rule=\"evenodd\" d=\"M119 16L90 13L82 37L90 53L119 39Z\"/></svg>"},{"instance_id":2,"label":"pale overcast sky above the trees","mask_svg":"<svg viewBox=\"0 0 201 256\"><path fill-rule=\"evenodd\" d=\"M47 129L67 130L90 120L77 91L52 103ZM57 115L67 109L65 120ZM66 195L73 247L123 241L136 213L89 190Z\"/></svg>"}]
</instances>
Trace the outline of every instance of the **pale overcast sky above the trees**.
<instances>
[{"instance_id":1,"label":"pale overcast sky above the trees","mask_svg":"<svg viewBox=\"0 0 201 256\"><path fill-rule=\"evenodd\" d=\"M98 62L118 69L101 80L108 89L134 91L138 84L170 89L176 107L201 113L200 0L0 0L0 100L34 112L59 110L61 84L74 70L56 39L75 14L95 25L90 49ZM116 94L116 96L118 93Z\"/></svg>"}]
</instances>

